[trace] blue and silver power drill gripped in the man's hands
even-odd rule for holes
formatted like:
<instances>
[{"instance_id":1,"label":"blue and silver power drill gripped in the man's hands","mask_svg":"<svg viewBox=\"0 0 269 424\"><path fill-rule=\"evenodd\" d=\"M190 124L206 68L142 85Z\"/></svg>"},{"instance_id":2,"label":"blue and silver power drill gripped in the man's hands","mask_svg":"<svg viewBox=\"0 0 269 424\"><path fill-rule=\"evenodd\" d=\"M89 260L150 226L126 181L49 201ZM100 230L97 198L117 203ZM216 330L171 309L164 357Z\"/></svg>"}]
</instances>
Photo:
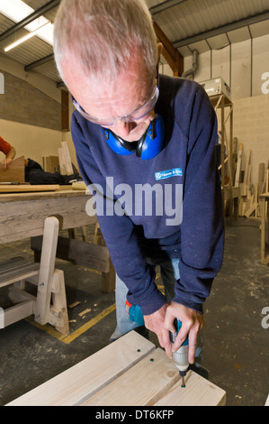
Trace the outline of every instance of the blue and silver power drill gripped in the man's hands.
<instances>
[{"instance_id":1,"label":"blue and silver power drill gripped in the man's hands","mask_svg":"<svg viewBox=\"0 0 269 424\"><path fill-rule=\"evenodd\" d=\"M175 343L175 338L178 335L180 328L182 327L182 322L178 318L175 318L174 325L175 325L176 332L175 333L170 332L170 340L172 344ZM185 387L184 378L185 378L187 369L189 367L188 351L189 351L189 339L187 337L184 343L180 346L180 348L173 353L175 366L179 370L179 374L182 379L181 387Z\"/></svg>"}]
</instances>

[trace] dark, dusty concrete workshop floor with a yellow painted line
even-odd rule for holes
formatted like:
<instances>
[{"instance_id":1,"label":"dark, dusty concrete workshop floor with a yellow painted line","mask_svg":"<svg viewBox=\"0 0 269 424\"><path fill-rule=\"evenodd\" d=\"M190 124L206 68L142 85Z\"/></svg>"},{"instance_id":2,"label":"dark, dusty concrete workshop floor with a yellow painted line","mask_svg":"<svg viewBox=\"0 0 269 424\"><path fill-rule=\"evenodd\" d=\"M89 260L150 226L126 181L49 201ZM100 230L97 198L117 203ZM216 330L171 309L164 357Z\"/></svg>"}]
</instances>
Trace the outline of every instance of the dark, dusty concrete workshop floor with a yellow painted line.
<instances>
[{"instance_id":1,"label":"dark, dusty concrete workshop floor with a yellow painted line","mask_svg":"<svg viewBox=\"0 0 269 424\"><path fill-rule=\"evenodd\" d=\"M243 218L227 224L224 263L204 306L203 365L211 382L227 392L228 406L263 406L269 393L269 328L262 327L262 309L269 307L269 267L260 263L258 226ZM88 231L93 235L94 228ZM15 255L31 259L30 241L0 245L1 261ZM114 304L114 292L102 293L96 272L60 260L57 267L65 272L67 304L80 301L68 309L70 334L76 338L66 344L52 327L36 327L32 318L0 330L0 405L110 343L114 310L86 331L79 329ZM1 289L1 306L5 299ZM80 317L85 309L91 310ZM155 335L150 340L157 344Z\"/></svg>"}]
</instances>

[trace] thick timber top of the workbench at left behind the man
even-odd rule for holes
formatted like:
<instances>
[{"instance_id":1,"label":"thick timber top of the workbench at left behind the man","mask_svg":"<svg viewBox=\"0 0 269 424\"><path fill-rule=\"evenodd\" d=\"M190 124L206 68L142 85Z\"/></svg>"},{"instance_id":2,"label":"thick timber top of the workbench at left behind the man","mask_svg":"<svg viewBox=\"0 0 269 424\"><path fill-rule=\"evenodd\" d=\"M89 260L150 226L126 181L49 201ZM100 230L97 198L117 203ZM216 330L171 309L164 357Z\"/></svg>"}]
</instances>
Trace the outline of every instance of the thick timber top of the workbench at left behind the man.
<instances>
[{"instance_id":1,"label":"thick timber top of the workbench at left behind the man","mask_svg":"<svg viewBox=\"0 0 269 424\"><path fill-rule=\"evenodd\" d=\"M63 230L94 224L96 217L85 213L89 198L72 189L1 193L0 243L42 235L46 217L58 217Z\"/></svg>"}]
</instances>

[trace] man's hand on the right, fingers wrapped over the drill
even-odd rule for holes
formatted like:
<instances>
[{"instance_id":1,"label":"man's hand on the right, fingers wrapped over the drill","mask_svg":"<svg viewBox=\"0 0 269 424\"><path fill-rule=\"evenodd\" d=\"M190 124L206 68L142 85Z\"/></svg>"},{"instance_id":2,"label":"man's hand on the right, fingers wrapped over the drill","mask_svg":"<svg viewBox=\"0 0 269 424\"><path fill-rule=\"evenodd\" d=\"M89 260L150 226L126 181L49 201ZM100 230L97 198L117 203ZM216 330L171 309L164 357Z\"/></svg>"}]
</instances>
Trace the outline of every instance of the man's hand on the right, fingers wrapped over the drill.
<instances>
[{"instance_id":1,"label":"man's hand on the right, fingers wrapped over the drill","mask_svg":"<svg viewBox=\"0 0 269 424\"><path fill-rule=\"evenodd\" d=\"M189 336L189 363L193 364L196 348L196 340L199 331L204 326L202 314L193 309L187 308L176 302L172 302L166 308L166 318L163 327L163 347L166 348L166 355L172 357L169 331L175 333L174 320L178 318L182 322L182 327L176 336L175 343L172 346L173 352L179 349L184 340Z\"/></svg>"}]
</instances>

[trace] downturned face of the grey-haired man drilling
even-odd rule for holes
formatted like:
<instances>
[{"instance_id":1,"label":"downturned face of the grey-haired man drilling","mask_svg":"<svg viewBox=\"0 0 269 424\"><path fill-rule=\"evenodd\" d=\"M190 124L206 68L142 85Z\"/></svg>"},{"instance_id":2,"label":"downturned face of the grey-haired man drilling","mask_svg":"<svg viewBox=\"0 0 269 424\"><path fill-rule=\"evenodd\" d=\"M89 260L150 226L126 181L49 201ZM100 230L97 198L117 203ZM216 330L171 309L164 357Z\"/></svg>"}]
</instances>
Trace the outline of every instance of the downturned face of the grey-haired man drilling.
<instances>
[{"instance_id":1,"label":"downturned face of the grey-haired man drilling","mask_svg":"<svg viewBox=\"0 0 269 424\"><path fill-rule=\"evenodd\" d=\"M75 62L75 64L74 64ZM149 75L141 66L139 56L134 55L128 69L114 81L91 85L77 66L76 61L63 67L67 87L76 98L76 102L87 115L100 119L100 122L113 122L113 118L132 114L145 105L154 94L156 79ZM149 103L150 106L150 103ZM147 109L146 109L147 110ZM112 125L103 125L111 129L127 142L135 142L147 131L148 125L154 119L154 109L134 122L124 122L116 119Z\"/></svg>"}]
</instances>

